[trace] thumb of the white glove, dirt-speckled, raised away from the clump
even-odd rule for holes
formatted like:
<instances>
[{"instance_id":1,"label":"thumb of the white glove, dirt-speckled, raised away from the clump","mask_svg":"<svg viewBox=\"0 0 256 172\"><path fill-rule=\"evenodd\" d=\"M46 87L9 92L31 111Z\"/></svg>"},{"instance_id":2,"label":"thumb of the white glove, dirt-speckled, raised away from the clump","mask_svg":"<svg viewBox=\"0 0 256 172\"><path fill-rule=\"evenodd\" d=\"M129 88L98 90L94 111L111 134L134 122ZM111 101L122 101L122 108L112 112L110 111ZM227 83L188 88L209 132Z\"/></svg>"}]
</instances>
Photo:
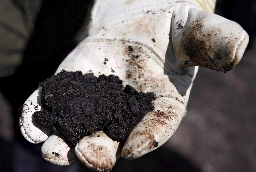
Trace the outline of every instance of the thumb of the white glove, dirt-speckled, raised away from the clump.
<instances>
[{"instance_id":1,"label":"thumb of the white glove, dirt-speckled, raised away from the clump","mask_svg":"<svg viewBox=\"0 0 256 172\"><path fill-rule=\"evenodd\" d=\"M174 51L181 67L229 71L240 62L249 42L248 34L238 23L195 8L186 16L173 18L172 23Z\"/></svg>"}]
</instances>

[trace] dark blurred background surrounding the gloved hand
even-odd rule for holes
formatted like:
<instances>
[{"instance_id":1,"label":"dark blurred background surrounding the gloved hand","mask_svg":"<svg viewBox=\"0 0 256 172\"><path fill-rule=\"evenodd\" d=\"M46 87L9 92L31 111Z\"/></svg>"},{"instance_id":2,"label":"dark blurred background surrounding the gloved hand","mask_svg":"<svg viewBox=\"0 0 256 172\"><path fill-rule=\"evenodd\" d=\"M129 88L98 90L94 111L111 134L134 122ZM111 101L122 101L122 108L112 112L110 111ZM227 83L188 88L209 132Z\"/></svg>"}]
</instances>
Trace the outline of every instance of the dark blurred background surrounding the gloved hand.
<instances>
[{"instance_id":1,"label":"dark blurred background surrounding the gloved hand","mask_svg":"<svg viewBox=\"0 0 256 172\"><path fill-rule=\"evenodd\" d=\"M0 171L82 172L43 160L42 144L19 131L18 108L87 35L93 0L0 0ZM239 23L250 42L235 69L200 68L187 116L162 147L113 171L256 171L256 1L217 0L215 13Z\"/></svg>"}]
</instances>

